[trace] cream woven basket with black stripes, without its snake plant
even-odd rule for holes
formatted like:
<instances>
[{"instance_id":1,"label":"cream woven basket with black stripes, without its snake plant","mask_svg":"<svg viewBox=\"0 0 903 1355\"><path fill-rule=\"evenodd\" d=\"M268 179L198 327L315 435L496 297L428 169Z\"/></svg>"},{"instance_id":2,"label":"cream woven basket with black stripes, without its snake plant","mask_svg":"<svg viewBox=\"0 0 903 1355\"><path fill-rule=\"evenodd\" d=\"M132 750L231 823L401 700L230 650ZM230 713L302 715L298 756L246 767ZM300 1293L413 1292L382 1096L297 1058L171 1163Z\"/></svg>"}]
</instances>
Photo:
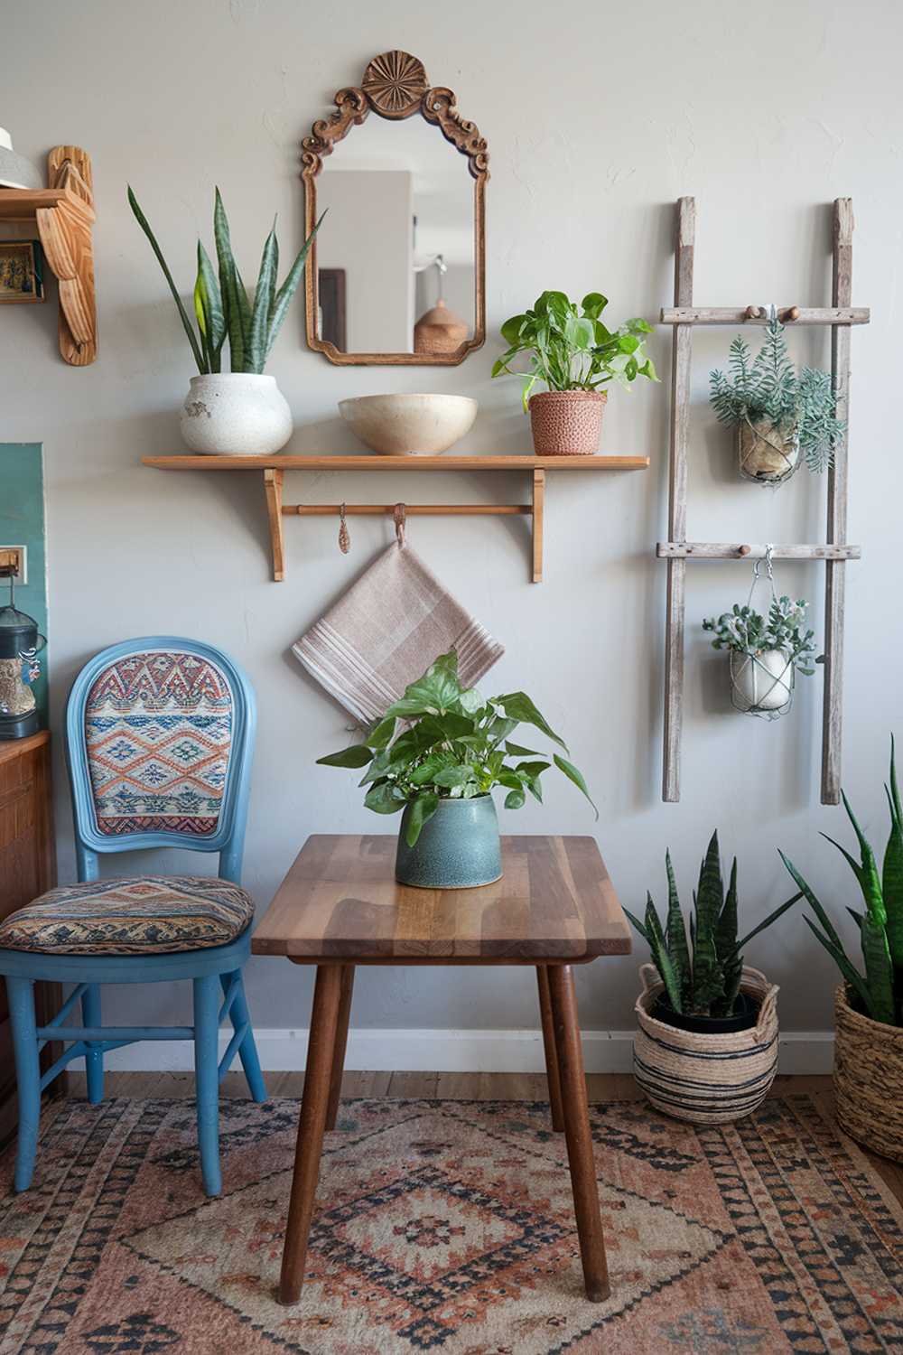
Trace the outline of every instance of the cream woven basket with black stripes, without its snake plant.
<instances>
[{"instance_id":1,"label":"cream woven basket with black stripes, without its snake plant","mask_svg":"<svg viewBox=\"0 0 903 1355\"><path fill-rule=\"evenodd\" d=\"M700 1035L650 1015L663 984L654 965L639 972L639 1030L634 1076L665 1115L693 1125L727 1125L765 1100L777 1072L777 988L758 969L743 969L741 989L761 1003L750 1030Z\"/></svg>"}]
</instances>

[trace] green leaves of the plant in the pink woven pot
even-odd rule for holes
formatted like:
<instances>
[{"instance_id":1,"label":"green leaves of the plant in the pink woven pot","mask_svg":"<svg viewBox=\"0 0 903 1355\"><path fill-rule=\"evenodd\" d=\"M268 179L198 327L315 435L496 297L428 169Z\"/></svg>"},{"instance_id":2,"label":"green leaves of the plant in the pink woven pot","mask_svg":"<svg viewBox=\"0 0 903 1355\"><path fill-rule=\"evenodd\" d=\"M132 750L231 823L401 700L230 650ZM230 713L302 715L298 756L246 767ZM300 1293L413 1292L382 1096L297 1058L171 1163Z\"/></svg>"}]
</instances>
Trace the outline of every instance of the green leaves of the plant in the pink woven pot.
<instances>
[{"instance_id":1,"label":"green leaves of the plant in the pink woven pot","mask_svg":"<svg viewBox=\"0 0 903 1355\"><path fill-rule=\"evenodd\" d=\"M608 298L590 291L579 306L563 291L544 291L533 309L512 316L502 325L508 351L493 366L493 377L517 375L524 382L524 409L537 381L547 390L597 390L609 381L630 386L638 377L658 381L644 336L653 332L646 320L627 320L620 329L607 329L600 316ZM519 354L529 354L529 370L509 366Z\"/></svg>"}]
</instances>

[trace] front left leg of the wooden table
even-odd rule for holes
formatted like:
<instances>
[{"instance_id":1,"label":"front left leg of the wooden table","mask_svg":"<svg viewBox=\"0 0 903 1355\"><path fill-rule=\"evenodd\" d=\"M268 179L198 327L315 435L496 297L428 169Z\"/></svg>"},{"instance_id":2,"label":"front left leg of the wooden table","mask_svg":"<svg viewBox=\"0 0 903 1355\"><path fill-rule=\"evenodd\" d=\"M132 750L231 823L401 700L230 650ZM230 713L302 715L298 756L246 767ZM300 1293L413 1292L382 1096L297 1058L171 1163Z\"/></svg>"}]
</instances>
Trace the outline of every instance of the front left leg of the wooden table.
<instances>
[{"instance_id":1,"label":"front left leg of the wooden table","mask_svg":"<svg viewBox=\"0 0 903 1355\"><path fill-rule=\"evenodd\" d=\"M307 1237L314 1211L314 1195L320 1176L320 1154L324 1146L329 1084L332 1081L333 1049L341 999L341 965L318 965L314 986L314 1007L310 1016L307 1069L305 1093L298 1121L295 1173L291 1182L286 1243L282 1253L279 1302L296 1304L305 1279Z\"/></svg>"}]
</instances>

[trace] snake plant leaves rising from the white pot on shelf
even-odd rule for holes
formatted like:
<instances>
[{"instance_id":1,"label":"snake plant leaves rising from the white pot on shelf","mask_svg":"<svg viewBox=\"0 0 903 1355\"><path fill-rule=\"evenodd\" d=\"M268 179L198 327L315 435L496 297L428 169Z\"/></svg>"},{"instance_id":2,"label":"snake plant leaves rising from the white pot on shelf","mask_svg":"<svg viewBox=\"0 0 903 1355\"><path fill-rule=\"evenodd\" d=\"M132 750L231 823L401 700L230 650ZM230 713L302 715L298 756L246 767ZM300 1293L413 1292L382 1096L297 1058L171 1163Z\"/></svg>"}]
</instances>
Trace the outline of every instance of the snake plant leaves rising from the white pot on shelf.
<instances>
[{"instance_id":1,"label":"snake plant leaves rising from the white pot on shelf","mask_svg":"<svg viewBox=\"0 0 903 1355\"><path fill-rule=\"evenodd\" d=\"M276 335L282 329L286 312L291 298L295 295L298 283L305 270L305 260L313 244L313 238L320 229L320 221L305 240L298 257L292 263L282 287L276 287L279 274L279 241L276 240L276 222L264 243L257 274L257 287L255 290L253 305L248 298L241 274L232 253L232 240L229 234L229 218L222 205L219 188L214 203L214 243L217 247L218 276L200 240L198 241L198 276L195 280L194 306L198 321L198 333L188 318L188 312L179 295L167 260L153 230L138 205L131 187L129 188L129 206L135 214L135 220L157 256L164 276L169 283L172 298L176 302L183 328L188 336L191 351L202 375L219 371L222 364L222 347L229 337L229 356L232 371L248 371L260 374L267 364L269 350Z\"/></svg>"}]
</instances>

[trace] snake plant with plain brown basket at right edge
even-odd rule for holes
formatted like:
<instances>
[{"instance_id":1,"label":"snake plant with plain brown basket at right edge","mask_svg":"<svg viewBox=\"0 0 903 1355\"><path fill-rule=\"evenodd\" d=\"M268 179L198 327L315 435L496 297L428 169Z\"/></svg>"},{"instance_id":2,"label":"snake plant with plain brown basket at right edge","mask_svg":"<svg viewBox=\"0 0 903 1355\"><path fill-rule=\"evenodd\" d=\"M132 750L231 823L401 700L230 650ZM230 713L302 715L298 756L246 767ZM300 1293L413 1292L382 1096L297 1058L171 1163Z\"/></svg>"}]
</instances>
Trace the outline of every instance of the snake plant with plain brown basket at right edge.
<instances>
[{"instance_id":1,"label":"snake plant with plain brown basket at right edge","mask_svg":"<svg viewBox=\"0 0 903 1355\"><path fill-rule=\"evenodd\" d=\"M891 832L879 873L875 852L846 795L843 808L858 840L860 859L827 840L849 862L865 909L847 908L860 934L862 969L847 955L827 912L788 856L781 859L811 906L806 917L835 961L843 982L834 1003L834 1108L850 1138L903 1163L903 809L891 740L891 776L884 791ZM827 836L826 833L823 836Z\"/></svg>"}]
</instances>

